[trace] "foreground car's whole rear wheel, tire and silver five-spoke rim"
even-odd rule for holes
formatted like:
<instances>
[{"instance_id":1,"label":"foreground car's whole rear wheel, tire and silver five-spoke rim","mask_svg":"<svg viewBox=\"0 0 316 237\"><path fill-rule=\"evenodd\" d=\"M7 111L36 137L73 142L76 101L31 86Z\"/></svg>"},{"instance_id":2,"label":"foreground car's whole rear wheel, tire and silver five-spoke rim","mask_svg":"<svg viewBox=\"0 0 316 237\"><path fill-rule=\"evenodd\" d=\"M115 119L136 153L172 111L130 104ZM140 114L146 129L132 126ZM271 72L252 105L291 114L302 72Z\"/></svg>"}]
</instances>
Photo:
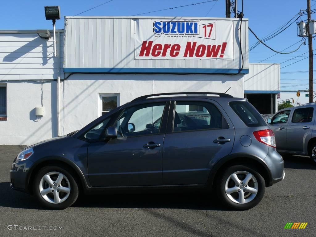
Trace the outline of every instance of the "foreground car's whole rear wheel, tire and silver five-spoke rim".
<instances>
[{"instance_id":1,"label":"foreground car's whole rear wheel, tire and silver five-spoke rim","mask_svg":"<svg viewBox=\"0 0 316 237\"><path fill-rule=\"evenodd\" d=\"M216 182L216 192L220 200L237 210L253 208L264 196L264 179L251 167L244 165L228 167Z\"/></svg>"}]
</instances>

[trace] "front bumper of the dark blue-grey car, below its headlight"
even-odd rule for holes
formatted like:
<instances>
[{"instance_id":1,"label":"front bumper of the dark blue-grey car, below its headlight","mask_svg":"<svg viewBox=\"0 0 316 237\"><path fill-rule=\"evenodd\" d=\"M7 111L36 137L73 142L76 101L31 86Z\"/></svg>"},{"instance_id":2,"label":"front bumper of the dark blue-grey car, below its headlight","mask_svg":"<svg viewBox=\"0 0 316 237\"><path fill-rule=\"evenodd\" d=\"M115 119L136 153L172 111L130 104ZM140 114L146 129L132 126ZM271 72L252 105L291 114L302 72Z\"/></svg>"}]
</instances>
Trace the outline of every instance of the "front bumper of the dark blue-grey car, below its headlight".
<instances>
[{"instance_id":1,"label":"front bumper of the dark blue-grey car, below its headlight","mask_svg":"<svg viewBox=\"0 0 316 237\"><path fill-rule=\"evenodd\" d=\"M28 174L33 162L29 159L12 164L10 170L10 187L14 190L29 192Z\"/></svg>"}]
</instances>

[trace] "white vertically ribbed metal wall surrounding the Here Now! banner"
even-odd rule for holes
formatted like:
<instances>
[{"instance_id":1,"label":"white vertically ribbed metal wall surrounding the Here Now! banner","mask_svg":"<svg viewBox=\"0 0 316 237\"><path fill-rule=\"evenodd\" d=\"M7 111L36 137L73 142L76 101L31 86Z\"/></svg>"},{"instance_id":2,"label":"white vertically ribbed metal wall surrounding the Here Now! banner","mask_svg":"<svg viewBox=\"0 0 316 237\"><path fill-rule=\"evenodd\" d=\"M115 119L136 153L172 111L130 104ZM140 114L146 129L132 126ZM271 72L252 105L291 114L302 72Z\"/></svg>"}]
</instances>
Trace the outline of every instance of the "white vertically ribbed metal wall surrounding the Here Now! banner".
<instances>
[{"instance_id":1,"label":"white vertically ribbed metal wall surrounding the Here Now! banner","mask_svg":"<svg viewBox=\"0 0 316 237\"><path fill-rule=\"evenodd\" d=\"M230 18L185 18L234 22L234 60L148 60L134 59L135 21L141 17L65 17L65 68L219 68L241 67L239 20ZM143 17L177 19L179 17ZM236 26L237 25L237 26ZM244 69L248 69L248 20L241 27Z\"/></svg>"}]
</instances>

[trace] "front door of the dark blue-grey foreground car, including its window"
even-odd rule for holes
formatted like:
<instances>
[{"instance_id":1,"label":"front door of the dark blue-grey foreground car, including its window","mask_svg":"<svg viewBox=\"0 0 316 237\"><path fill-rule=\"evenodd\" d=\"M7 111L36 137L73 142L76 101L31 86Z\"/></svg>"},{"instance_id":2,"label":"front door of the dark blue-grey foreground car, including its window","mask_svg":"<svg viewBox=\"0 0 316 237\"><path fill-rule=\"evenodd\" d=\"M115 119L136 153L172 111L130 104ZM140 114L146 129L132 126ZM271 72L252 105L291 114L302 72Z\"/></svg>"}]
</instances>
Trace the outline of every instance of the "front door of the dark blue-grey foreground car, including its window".
<instances>
[{"instance_id":1,"label":"front door of the dark blue-grey foreground car, including its window","mask_svg":"<svg viewBox=\"0 0 316 237\"><path fill-rule=\"evenodd\" d=\"M91 143L88 176L92 186L162 185L162 147L170 102L137 104L122 110L116 139ZM161 123L154 122L162 118Z\"/></svg>"}]
</instances>

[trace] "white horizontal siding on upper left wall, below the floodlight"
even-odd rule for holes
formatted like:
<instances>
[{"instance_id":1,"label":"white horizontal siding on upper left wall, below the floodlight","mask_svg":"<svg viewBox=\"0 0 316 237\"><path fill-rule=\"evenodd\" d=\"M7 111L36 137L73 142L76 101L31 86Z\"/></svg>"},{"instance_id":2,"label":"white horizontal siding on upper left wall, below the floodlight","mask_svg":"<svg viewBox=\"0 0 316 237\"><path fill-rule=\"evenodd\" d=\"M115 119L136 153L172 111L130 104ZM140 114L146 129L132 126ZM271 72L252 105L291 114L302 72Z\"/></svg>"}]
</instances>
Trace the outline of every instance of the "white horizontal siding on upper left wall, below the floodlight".
<instances>
[{"instance_id":1,"label":"white horizontal siding on upper left wall, below the floodlight","mask_svg":"<svg viewBox=\"0 0 316 237\"><path fill-rule=\"evenodd\" d=\"M63 78L63 33L60 33L59 60L53 57L53 52L53 38L41 39L37 33L0 33L0 79L57 79L58 62Z\"/></svg>"}]
</instances>

